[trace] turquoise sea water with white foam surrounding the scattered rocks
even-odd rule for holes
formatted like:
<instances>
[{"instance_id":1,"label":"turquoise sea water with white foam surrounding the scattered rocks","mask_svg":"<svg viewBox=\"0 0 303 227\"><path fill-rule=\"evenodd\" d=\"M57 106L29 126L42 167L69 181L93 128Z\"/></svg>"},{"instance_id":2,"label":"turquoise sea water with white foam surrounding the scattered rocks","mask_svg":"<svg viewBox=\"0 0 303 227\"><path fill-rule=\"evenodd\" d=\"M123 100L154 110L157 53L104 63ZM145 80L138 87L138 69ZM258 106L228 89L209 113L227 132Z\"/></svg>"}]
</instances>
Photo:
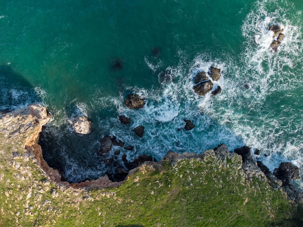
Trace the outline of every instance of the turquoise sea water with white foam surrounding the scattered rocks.
<instances>
[{"instance_id":1,"label":"turquoise sea water with white foam surrounding the scattered rocks","mask_svg":"<svg viewBox=\"0 0 303 227\"><path fill-rule=\"evenodd\" d=\"M282 161L303 168L302 1L0 3L0 110L45 104L53 117L41 141L44 157L68 181L113 171L97 155L106 135L135 146L112 149L108 157L121 150L120 164L123 154L159 160L169 150L202 153L226 143L231 151L259 149L256 157L271 170ZM272 24L285 34L276 53ZM210 66L222 71L222 93L198 97L192 78ZM173 82L160 83L165 70ZM146 106L128 110L129 93ZM91 118L91 134L74 132L69 120L78 114ZM122 125L120 114L131 124ZM184 119L196 127L179 131ZM132 131L138 125L141 139Z\"/></svg>"}]
</instances>

